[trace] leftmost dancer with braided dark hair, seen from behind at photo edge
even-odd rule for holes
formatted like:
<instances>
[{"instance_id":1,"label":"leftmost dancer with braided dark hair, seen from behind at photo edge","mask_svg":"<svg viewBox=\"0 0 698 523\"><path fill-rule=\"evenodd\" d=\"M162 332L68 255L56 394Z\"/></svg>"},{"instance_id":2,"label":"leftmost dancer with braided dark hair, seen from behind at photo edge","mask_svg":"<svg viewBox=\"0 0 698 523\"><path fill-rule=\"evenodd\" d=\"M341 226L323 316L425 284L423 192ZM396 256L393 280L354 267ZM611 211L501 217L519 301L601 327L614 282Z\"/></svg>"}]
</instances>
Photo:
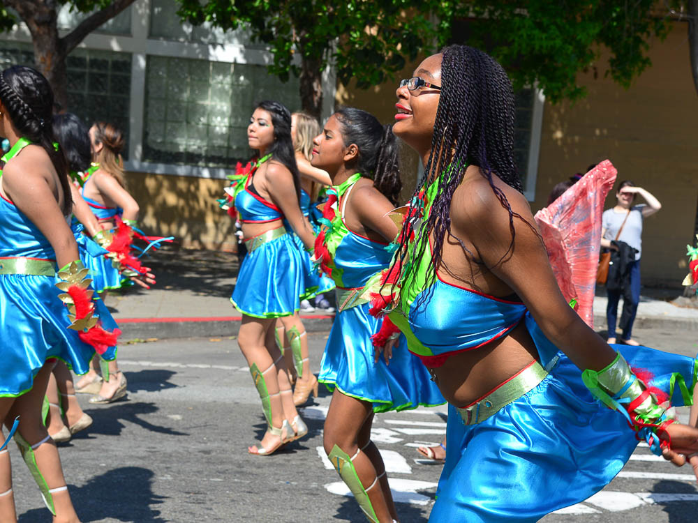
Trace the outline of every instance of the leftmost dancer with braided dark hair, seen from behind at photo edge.
<instances>
[{"instance_id":1,"label":"leftmost dancer with braided dark hair, seen from behind at photo edge","mask_svg":"<svg viewBox=\"0 0 698 523\"><path fill-rule=\"evenodd\" d=\"M0 418L9 427L20 416L15 441L54 521L74 523L78 518L57 448L43 425L41 406L55 360L86 372L94 349L82 340L90 339L97 347L93 335L101 329L80 326L91 313L69 317L62 303L89 300L83 290L89 282L82 280L77 245L66 218L71 207L70 181L66 159L54 149L52 109L51 88L36 70L15 66L0 73L0 135L12 145L2 158L0 178L0 329L5 340ZM74 319L77 324L71 323ZM114 357L114 347L102 349L103 357ZM16 519L6 449L0 451L0 519Z\"/></svg>"}]
</instances>

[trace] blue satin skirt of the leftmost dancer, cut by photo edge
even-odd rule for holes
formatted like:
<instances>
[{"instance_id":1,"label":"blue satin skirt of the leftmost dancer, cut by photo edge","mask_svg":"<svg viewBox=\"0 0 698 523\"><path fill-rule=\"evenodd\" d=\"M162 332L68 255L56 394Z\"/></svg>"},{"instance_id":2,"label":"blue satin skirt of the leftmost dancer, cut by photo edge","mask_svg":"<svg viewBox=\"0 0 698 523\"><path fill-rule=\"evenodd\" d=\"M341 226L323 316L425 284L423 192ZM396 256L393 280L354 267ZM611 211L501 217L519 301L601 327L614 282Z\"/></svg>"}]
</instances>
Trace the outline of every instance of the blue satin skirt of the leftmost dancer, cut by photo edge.
<instances>
[{"instance_id":1,"label":"blue satin skirt of the leftmost dancer, cut by photo edge","mask_svg":"<svg viewBox=\"0 0 698 523\"><path fill-rule=\"evenodd\" d=\"M94 349L68 328L57 282L50 276L0 275L0 396L27 393L49 358L61 359L77 374L89 370ZM103 354L107 360L115 357L116 347Z\"/></svg>"}]
</instances>

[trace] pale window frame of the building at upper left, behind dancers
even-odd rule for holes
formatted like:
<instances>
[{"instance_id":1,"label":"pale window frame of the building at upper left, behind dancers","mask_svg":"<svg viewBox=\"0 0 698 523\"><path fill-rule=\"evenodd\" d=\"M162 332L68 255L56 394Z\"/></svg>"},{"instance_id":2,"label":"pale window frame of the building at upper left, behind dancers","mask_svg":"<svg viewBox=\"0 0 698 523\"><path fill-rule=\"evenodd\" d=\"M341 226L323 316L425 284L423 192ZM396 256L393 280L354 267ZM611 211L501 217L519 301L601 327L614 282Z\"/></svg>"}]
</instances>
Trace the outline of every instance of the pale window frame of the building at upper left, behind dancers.
<instances>
[{"instance_id":1,"label":"pale window frame of the building at upper left, behind dancers","mask_svg":"<svg viewBox=\"0 0 698 523\"><path fill-rule=\"evenodd\" d=\"M93 31L78 45L89 50L128 52L131 60L131 93L128 137L128 158L124 167L129 172L149 174L170 174L173 176L193 176L197 178L225 179L230 174L226 167L202 167L196 165L177 165L168 163L145 162L142 160L142 142L145 116L145 84L147 56L165 56L170 58L191 58L268 66L274 61L272 53L258 45L247 46L242 43L205 44L186 43L178 40L165 40L150 37L151 1L136 0L131 4L131 34L100 33ZM64 36L68 31L59 31ZM25 24L15 28L2 37L3 40L32 43L31 34ZM322 72L322 116L329 117L334 110L336 91L336 72L334 67Z\"/></svg>"}]
</instances>

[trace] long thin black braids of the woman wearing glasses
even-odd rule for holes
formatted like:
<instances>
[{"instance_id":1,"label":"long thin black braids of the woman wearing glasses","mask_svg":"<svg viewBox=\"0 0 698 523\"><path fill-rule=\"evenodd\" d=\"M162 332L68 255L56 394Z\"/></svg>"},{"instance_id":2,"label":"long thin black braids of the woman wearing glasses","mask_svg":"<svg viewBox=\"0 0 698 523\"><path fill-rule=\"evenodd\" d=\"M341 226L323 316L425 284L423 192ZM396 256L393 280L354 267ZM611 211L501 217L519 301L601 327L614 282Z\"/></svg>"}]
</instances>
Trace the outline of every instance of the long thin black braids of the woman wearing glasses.
<instances>
[{"instance_id":1,"label":"long thin black braids of the woman wearing glasses","mask_svg":"<svg viewBox=\"0 0 698 523\"><path fill-rule=\"evenodd\" d=\"M514 248L514 218L524 220L513 211L505 193L493 179L496 174L507 185L523 192L514 161L514 95L510 79L489 54L473 47L450 45L442 50L442 54L441 91L431 154L424 168L424 179L415 190L416 196L425 184L438 183L431 212L417 231L419 238L433 237L433 257L426 276L428 287L432 287L436 280L436 268L442 260L446 237L454 238L474 261L482 264L459 238L451 234L451 200L468 165L480 168L480 174L489 181L500 204L509 213L512 241L500 261ZM419 266L407 263L410 254L408 241L418 223L418 220L405 221L396 255L396 261L404 264L407 273L416 273ZM412 255L415 260L424 255L426 245L426 241L414 243ZM422 296L426 299L428 295Z\"/></svg>"}]
</instances>

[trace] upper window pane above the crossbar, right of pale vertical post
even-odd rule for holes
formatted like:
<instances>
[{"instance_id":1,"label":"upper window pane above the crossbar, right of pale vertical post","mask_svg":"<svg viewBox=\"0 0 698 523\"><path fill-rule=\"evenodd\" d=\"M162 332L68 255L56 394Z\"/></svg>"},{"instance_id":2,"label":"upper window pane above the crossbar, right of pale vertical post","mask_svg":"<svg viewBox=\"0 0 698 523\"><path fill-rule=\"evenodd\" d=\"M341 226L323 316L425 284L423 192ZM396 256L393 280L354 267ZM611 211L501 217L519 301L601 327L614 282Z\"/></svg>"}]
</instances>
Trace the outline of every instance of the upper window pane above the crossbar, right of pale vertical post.
<instances>
[{"instance_id":1,"label":"upper window pane above the crossbar, right of pale vertical post","mask_svg":"<svg viewBox=\"0 0 698 523\"><path fill-rule=\"evenodd\" d=\"M151 38L203 44L244 43L248 48L264 47L251 45L250 33L245 29L223 31L206 23L200 26L183 23L177 15L177 7L177 3L172 0L151 0L149 31Z\"/></svg>"}]
</instances>

